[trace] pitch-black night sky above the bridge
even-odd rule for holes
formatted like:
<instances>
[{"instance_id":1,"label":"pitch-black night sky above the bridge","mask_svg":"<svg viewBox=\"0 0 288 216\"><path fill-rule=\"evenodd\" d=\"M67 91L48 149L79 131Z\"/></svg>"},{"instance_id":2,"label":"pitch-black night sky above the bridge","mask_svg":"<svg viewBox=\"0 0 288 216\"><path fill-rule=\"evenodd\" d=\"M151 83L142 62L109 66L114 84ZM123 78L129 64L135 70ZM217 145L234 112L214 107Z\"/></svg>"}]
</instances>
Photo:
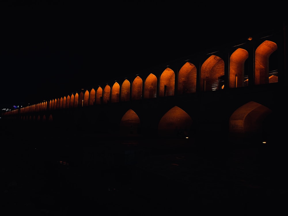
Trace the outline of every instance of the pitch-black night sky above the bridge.
<instances>
[{"instance_id":1,"label":"pitch-black night sky above the bridge","mask_svg":"<svg viewBox=\"0 0 288 216\"><path fill-rule=\"evenodd\" d=\"M193 5L80 2L1 3L1 109L66 96L278 27L248 12L231 25L233 13L213 7L199 16Z\"/></svg>"}]
</instances>

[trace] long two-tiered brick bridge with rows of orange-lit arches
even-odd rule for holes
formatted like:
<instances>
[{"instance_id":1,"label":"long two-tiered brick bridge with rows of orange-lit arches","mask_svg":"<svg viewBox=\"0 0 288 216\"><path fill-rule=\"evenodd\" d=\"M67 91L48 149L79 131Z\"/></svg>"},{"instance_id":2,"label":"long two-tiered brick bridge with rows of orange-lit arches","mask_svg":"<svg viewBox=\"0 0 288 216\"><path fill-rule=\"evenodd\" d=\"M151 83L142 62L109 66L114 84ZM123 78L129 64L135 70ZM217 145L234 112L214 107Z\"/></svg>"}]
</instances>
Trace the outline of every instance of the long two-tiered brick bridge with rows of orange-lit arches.
<instances>
[{"instance_id":1,"label":"long two-tiered brick bridge with rows of orange-lit arches","mask_svg":"<svg viewBox=\"0 0 288 216\"><path fill-rule=\"evenodd\" d=\"M284 28L2 112L1 119L23 130L95 137L275 140L284 117L286 43Z\"/></svg>"}]
</instances>

